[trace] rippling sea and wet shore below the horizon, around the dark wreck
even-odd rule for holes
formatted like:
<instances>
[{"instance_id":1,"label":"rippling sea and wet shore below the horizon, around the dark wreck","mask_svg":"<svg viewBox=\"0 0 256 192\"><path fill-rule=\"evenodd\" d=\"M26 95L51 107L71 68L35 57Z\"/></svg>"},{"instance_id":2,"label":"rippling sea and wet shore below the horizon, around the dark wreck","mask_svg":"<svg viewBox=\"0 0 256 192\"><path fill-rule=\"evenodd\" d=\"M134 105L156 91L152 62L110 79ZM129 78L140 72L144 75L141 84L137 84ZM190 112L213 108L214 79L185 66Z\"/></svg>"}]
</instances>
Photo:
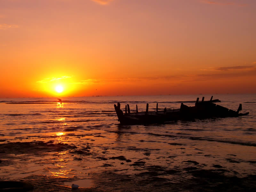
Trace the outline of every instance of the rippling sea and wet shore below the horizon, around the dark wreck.
<instances>
[{"instance_id":1,"label":"rippling sea and wet shore below the horizon, around the dark wreck","mask_svg":"<svg viewBox=\"0 0 256 192\"><path fill-rule=\"evenodd\" d=\"M213 95L229 109L242 103L250 114L241 117L121 126L114 110L117 102L131 112L136 104L139 111L147 103L149 111L156 103L160 110L181 102L194 106L203 96L211 98L70 97L62 104L57 98L2 98L0 180L31 182L34 191L52 191L49 183L66 191L72 182L85 191L214 191L237 178L239 189L255 189L255 94Z\"/></svg>"}]
</instances>

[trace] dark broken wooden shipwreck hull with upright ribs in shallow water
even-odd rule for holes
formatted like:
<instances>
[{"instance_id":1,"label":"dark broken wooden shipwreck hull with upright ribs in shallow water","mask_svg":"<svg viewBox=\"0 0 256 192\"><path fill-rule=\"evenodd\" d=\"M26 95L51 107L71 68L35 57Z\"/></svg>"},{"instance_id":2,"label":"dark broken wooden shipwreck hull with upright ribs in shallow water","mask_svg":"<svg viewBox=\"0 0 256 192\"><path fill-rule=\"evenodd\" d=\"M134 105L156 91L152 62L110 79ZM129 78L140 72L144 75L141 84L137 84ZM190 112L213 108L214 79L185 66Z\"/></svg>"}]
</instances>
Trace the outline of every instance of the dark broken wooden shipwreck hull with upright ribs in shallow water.
<instances>
[{"instance_id":1,"label":"dark broken wooden shipwreck hull with upright ribs in shallow water","mask_svg":"<svg viewBox=\"0 0 256 192\"><path fill-rule=\"evenodd\" d=\"M118 117L118 121L121 125L132 124L152 124L152 123L164 123L167 121L177 120L195 120L212 117L238 117L248 115L248 113L239 113L242 110L242 104L239 105L237 111L216 105L214 102L220 102L220 100L199 101L197 98L195 106L188 107L181 103L179 109L166 109L159 111L158 103L156 104L156 111L148 111L148 103L146 111L138 112L138 106L136 105L136 112L130 112L130 106L125 106L125 113L120 109L120 103L115 104L115 110ZM128 112L127 112L128 110Z\"/></svg>"}]
</instances>

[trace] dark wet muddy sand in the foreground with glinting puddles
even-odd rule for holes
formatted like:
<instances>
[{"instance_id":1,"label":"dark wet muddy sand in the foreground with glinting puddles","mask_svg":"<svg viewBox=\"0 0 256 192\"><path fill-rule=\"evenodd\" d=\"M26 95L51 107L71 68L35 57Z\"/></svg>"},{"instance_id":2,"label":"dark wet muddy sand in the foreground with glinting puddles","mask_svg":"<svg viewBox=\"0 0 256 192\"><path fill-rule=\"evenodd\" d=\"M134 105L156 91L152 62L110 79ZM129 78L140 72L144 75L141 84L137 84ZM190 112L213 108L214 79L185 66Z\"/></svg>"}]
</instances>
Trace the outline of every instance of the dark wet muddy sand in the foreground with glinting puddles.
<instances>
[{"instance_id":1,"label":"dark wet muddy sand in the foreground with glinting puddles","mask_svg":"<svg viewBox=\"0 0 256 192\"><path fill-rule=\"evenodd\" d=\"M94 138L99 136L91 135ZM81 192L256 190L255 174L241 177L233 168L234 164L244 163L236 155L227 154L226 164L217 160L215 164L199 163L185 154L184 144L171 145L180 150L186 160L177 153L154 156L157 149L135 146L131 146L129 151L140 156L128 153L127 156L119 156L110 147L99 150L92 139L79 147L53 140L6 142L0 144L1 181L23 181L33 185L35 192L71 191L72 183L79 183L80 187L75 191ZM198 150L196 153L206 159L211 158L211 155L203 155ZM156 165L155 161L159 159L162 164ZM254 165L256 162L249 163Z\"/></svg>"}]
</instances>

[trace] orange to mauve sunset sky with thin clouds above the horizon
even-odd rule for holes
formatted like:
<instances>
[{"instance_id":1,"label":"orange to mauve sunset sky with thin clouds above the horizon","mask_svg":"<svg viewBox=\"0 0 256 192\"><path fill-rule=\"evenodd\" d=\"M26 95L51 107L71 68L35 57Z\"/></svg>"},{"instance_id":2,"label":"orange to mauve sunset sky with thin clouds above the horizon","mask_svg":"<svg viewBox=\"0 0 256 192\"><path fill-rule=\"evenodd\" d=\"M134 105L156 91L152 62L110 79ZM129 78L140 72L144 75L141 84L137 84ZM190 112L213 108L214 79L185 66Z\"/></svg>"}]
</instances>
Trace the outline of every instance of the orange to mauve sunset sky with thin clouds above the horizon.
<instances>
[{"instance_id":1,"label":"orange to mauve sunset sky with thin clouds above the horizon","mask_svg":"<svg viewBox=\"0 0 256 192\"><path fill-rule=\"evenodd\" d=\"M0 0L0 69L0 97L256 93L256 1Z\"/></svg>"}]
</instances>

